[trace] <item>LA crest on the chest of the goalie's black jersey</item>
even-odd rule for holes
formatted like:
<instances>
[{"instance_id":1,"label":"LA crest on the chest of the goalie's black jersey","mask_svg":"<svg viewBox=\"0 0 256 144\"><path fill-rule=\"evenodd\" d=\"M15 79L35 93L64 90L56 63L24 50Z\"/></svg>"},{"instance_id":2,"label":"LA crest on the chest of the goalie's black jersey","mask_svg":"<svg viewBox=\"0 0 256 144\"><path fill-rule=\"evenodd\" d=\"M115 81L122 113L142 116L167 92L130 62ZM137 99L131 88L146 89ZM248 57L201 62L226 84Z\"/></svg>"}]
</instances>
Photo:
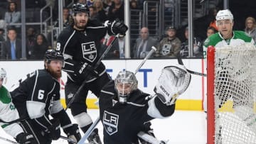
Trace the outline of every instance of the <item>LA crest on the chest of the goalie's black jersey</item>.
<instances>
[{"instance_id":1,"label":"LA crest on the chest of the goalie's black jersey","mask_svg":"<svg viewBox=\"0 0 256 144\"><path fill-rule=\"evenodd\" d=\"M119 116L117 114L104 111L102 123L109 135L117 133L118 118Z\"/></svg>"}]
</instances>

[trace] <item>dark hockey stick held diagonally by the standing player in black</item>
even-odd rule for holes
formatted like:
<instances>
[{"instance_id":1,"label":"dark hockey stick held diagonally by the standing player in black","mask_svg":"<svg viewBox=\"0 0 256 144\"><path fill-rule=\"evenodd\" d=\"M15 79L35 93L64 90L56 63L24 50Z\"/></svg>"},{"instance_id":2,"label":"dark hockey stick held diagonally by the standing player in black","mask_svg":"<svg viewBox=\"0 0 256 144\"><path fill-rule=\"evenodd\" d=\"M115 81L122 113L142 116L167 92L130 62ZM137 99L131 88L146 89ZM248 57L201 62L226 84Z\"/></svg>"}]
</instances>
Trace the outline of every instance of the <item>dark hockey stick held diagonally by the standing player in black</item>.
<instances>
[{"instance_id":1,"label":"dark hockey stick held diagonally by the standing player in black","mask_svg":"<svg viewBox=\"0 0 256 144\"><path fill-rule=\"evenodd\" d=\"M114 40L112 40L112 42L110 43L110 45L106 48L106 50L102 53L102 56L99 58L99 60L97 60L94 68L97 68L100 65L101 60L107 55L107 52L110 51L110 49L112 48L112 45L114 43L115 40L117 40L117 38L119 37L119 35L116 35L114 37ZM82 90L82 88L85 86L85 84L87 83L87 81L85 80L84 82L82 82L81 86L79 87L78 91L75 92L74 96L72 97L72 99L70 99L70 101L68 102L65 111L67 111L67 109L70 107L70 105L73 103L73 101L75 101L75 97L76 95L78 95L80 93L80 91Z\"/></svg>"}]
</instances>

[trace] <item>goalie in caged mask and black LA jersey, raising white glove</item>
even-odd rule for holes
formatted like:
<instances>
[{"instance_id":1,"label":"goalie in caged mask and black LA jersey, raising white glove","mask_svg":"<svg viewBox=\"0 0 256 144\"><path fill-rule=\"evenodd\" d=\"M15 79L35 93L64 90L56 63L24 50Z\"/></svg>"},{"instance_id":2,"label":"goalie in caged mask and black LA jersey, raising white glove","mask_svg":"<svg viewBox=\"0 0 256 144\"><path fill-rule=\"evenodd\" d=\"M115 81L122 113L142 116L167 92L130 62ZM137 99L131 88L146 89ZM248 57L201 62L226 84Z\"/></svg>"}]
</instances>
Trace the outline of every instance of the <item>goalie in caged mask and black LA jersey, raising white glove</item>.
<instances>
[{"instance_id":1,"label":"goalie in caged mask and black LA jersey, raising white glove","mask_svg":"<svg viewBox=\"0 0 256 144\"><path fill-rule=\"evenodd\" d=\"M183 67L165 67L154 89L156 94L150 96L137 88L132 72L119 72L100 94L104 143L139 143L137 134L145 131L144 123L174 113L176 98L186 90L190 79Z\"/></svg>"}]
</instances>

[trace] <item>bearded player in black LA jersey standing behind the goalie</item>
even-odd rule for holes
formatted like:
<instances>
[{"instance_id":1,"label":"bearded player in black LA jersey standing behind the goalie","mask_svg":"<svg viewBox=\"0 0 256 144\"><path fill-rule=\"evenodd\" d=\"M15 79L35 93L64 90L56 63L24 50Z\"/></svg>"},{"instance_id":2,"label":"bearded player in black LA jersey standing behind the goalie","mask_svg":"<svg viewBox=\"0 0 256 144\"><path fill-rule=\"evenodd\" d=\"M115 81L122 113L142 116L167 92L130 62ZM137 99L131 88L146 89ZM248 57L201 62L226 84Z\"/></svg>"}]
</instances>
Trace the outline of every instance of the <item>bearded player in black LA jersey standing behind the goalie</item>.
<instances>
[{"instance_id":1,"label":"bearded player in black LA jersey standing behind the goalie","mask_svg":"<svg viewBox=\"0 0 256 144\"><path fill-rule=\"evenodd\" d=\"M87 114L85 100L90 90L99 96L102 87L110 81L105 65L101 62L99 67L94 68L100 56L100 40L106 33L109 35L125 35L127 26L122 21L106 21L98 23L89 18L90 11L86 4L74 4L73 23L65 28L58 36L56 50L63 53L65 66L63 71L67 72L68 80L65 84L66 104L78 91L82 82L87 82L79 94L76 94L75 101L70 105L71 112L83 132L92 125L92 119ZM98 139L97 129L92 132L88 140L92 142Z\"/></svg>"}]
</instances>

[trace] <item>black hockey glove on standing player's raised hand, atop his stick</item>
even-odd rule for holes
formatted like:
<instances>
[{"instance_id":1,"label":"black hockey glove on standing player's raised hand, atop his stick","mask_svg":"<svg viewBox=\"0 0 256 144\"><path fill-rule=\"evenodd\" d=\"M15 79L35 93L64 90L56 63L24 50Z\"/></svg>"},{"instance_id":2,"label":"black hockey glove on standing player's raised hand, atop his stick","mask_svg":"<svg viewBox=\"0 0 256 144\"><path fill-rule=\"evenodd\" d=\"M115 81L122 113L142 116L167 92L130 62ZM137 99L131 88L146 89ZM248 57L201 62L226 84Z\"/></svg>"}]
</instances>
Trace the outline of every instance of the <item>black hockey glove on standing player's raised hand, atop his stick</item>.
<instances>
[{"instance_id":1,"label":"black hockey glove on standing player's raised hand, atop his stick","mask_svg":"<svg viewBox=\"0 0 256 144\"><path fill-rule=\"evenodd\" d=\"M119 21L119 19L117 18L112 22L111 29L115 35L117 35L118 33L120 35L125 35L125 32L128 30L128 27L124 24L123 21Z\"/></svg>"}]
</instances>

